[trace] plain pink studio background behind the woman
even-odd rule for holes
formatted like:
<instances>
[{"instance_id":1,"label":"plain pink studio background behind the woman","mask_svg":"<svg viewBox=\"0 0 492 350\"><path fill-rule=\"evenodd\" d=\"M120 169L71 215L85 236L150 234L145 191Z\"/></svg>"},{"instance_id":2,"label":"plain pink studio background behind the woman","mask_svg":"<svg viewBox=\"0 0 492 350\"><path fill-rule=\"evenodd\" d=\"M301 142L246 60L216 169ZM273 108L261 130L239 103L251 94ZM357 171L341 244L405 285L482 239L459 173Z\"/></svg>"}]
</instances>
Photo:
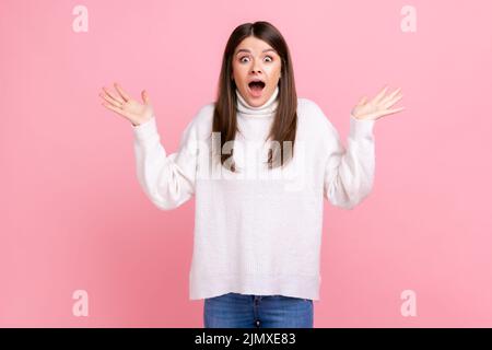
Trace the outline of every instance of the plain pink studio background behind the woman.
<instances>
[{"instance_id":1,"label":"plain pink studio background behind the woman","mask_svg":"<svg viewBox=\"0 0 492 350\"><path fill-rule=\"evenodd\" d=\"M89 9L75 33L72 9ZM417 9L417 33L400 10ZM284 35L298 96L347 142L385 83L406 110L375 126L376 178L325 205L315 327L492 326L492 2L0 1L0 326L202 327L188 300L192 200L160 211L136 177L131 125L98 93L149 91L166 150L213 101L235 26ZM72 293L89 293L89 317ZM403 290L417 293L403 317Z\"/></svg>"}]
</instances>

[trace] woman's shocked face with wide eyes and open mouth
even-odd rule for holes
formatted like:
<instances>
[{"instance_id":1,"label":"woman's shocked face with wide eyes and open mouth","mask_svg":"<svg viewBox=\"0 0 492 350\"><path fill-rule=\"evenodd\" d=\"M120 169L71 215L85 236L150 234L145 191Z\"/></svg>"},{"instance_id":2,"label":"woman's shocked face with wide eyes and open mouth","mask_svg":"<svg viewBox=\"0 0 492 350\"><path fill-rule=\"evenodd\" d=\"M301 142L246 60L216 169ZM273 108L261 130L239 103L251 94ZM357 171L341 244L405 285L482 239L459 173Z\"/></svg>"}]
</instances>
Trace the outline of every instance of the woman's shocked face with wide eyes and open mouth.
<instances>
[{"instance_id":1,"label":"woman's shocked face with wide eyes and open mouth","mask_svg":"<svg viewBox=\"0 0 492 350\"><path fill-rule=\"evenodd\" d=\"M277 88L281 72L281 58L266 42L248 36L236 47L233 56L233 79L248 104L259 107ZM251 81L263 84L253 84ZM261 88L262 86L262 88Z\"/></svg>"}]
</instances>

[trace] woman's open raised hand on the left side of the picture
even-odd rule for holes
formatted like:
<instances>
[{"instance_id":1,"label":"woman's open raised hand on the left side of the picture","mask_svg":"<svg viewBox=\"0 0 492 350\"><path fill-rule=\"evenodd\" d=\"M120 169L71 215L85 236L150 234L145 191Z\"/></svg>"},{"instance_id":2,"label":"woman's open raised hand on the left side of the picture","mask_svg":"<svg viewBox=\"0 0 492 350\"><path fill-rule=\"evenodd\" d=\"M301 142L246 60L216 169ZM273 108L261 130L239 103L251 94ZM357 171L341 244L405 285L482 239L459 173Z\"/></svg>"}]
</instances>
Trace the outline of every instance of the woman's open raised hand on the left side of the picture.
<instances>
[{"instance_id":1,"label":"woman's open raised hand on the left side of the picture","mask_svg":"<svg viewBox=\"0 0 492 350\"><path fill-rule=\"evenodd\" d=\"M103 88L103 92L99 93L99 96L105 100L103 106L130 120L133 127L149 121L153 117L154 110L145 90L142 91L142 104L131 98L119 84L115 83L115 89L118 94L114 94Z\"/></svg>"}]
</instances>

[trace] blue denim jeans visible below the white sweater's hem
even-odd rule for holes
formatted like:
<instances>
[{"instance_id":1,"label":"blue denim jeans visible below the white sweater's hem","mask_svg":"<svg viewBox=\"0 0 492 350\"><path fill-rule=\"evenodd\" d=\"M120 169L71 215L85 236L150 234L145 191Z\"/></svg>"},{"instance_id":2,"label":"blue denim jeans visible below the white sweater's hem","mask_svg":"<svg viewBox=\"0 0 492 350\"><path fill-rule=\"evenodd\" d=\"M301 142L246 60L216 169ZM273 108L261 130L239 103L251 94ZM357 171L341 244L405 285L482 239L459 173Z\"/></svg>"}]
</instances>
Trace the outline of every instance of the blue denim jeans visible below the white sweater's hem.
<instances>
[{"instance_id":1,"label":"blue denim jeans visible below the white sweater's hem","mask_svg":"<svg viewBox=\"0 0 492 350\"><path fill-rule=\"evenodd\" d=\"M204 328L313 328L313 300L226 293L206 298Z\"/></svg>"}]
</instances>

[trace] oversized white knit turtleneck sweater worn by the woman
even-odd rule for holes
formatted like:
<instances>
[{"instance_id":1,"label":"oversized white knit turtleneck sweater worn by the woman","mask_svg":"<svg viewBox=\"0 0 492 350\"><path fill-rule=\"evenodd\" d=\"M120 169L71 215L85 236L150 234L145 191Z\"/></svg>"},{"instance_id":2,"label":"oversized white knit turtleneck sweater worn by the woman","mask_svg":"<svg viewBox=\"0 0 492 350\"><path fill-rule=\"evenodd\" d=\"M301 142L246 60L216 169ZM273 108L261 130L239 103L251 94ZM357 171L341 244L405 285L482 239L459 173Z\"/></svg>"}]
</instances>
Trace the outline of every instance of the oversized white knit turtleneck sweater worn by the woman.
<instances>
[{"instance_id":1,"label":"oversized white knit turtleneck sweater worn by the woman","mask_svg":"<svg viewBox=\"0 0 492 350\"><path fill-rule=\"evenodd\" d=\"M319 300L324 198L352 209L372 189L375 120L350 115L345 149L307 98L297 100L292 161L283 171L261 165L278 94L279 88L265 105L253 107L236 91L241 132L234 161L241 173L211 162L207 151L214 103L198 110L171 154L155 116L133 127L137 177L147 197L162 210L196 200L190 300L229 292Z\"/></svg>"}]
</instances>

